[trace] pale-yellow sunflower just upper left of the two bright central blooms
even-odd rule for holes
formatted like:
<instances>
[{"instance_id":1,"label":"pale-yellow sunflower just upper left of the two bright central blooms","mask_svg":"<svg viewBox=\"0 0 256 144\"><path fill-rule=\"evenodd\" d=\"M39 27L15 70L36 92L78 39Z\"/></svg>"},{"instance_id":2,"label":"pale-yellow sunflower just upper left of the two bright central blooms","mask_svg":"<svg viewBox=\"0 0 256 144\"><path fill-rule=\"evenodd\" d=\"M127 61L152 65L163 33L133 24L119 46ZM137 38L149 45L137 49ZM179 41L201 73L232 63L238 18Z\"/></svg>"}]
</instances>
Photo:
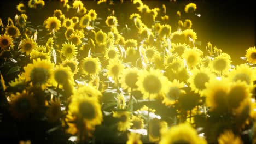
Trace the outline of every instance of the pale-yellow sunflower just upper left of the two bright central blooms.
<instances>
[{"instance_id":1,"label":"pale-yellow sunflower just upper left of the two bright central blooms","mask_svg":"<svg viewBox=\"0 0 256 144\"><path fill-rule=\"evenodd\" d=\"M110 59L109 65L107 65L107 75L117 82L120 74L123 73L123 69L124 65L120 59Z\"/></svg>"}]
</instances>

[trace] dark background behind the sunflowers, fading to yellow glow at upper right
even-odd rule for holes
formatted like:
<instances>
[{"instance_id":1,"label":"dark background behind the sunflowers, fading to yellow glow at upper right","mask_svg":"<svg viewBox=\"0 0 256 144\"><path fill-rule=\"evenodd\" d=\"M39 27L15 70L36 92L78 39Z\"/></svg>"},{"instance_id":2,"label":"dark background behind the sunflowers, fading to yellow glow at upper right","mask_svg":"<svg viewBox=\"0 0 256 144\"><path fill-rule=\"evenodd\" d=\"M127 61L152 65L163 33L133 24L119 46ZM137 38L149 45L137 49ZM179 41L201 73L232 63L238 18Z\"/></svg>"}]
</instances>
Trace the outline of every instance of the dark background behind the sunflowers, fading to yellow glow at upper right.
<instances>
[{"instance_id":1,"label":"dark background behind the sunflowers, fading to yellow glow at upper right","mask_svg":"<svg viewBox=\"0 0 256 144\"><path fill-rule=\"evenodd\" d=\"M16 5L20 1L1 1L0 3L0 17L3 22L7 22L7 17L14 18L18 13ZM28 1L24 1L26 4ZM94 1L83 1L85 7L95 9L97 13L108 14L108 11L102 11L100 7L95 7ZM111 7L115 9L116 15L130 15L132 13L139 13L134 11L134 6L129 5L130 0L123 4L118 3ZM180 1L176 3L170 1L143 1L144 4L149 5L150 8L162 8L162 4L166 5L167 14L174 14L175 11L182 12L183 20L188 17L193 22L193 29L197 33L198 41L202 41L201 49L205 49L208 41L211 41L213 46L222 49L223 52L229 53L232 59L232 64L243 63L240 57L245 56L246 49L255 46L255 18L254 18L254 4L253 1ZM201 17L195 15L184 14L184 7L186 4L193 2L197 4L196 12L201 14ZM28 15L28 19L36 19L37 23L43 22L49 14L53 14L54 9L61 7L58 1L45 1L45 7L42 10L34 10L33 15ZM98 14L101 16L101 14ZM67 16L66 16L67 17ZM124 21L127 16L123 16ZM118 21L122 21L118 19ZM176 22L173 17L170 17L171 22ZM34 22L34 23L36 23ZM32 23L33 24L33 23ZM172 23L171 23L172 24ZM172 25L171 25L172 26ZM174 31L173 29L172 31Z\"/></svg>"}]
</instances>

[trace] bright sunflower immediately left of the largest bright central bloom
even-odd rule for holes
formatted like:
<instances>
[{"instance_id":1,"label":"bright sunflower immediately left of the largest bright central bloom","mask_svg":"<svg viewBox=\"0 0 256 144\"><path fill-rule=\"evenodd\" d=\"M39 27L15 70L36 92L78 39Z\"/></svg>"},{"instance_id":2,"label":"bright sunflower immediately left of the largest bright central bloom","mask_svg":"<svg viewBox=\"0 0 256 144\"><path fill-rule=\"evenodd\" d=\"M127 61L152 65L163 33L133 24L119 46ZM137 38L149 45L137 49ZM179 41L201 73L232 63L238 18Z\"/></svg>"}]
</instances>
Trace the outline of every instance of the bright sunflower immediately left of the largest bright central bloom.
<instances>
[{"instance_id":1,"label":"bright sunflower immediately left of the largest bright central bloom","mask_svg":"<svg viewBox=\"0 0 256 144\"><path fill-rule=\"evenodd\" d=\"M140 70L136 67L124 69L120 79L121 87L124 89L136 89L138 87L136 82L138 81L139 72Z\"/></svg>"}]
</instances>

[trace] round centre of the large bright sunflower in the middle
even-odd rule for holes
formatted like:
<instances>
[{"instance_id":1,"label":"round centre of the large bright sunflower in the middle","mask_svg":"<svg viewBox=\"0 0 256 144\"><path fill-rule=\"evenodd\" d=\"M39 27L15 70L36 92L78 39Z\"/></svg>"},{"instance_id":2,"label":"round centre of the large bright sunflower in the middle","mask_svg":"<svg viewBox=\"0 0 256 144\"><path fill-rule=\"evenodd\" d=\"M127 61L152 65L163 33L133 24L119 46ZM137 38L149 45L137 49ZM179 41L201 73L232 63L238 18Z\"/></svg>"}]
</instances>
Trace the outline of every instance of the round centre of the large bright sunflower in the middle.
<instances>
[{"instance_id":1,"label":"round centre of the large bright sunflower in the middle","mask_svg":"<svg viewBox=\"0 0 256 144\"><path fill-rule=\"evenodd\" d=\"M143 87L146 92L158 93L161 90L161 81L155 75L148 75L143 81Z\"/></svg>"}]
</instances>

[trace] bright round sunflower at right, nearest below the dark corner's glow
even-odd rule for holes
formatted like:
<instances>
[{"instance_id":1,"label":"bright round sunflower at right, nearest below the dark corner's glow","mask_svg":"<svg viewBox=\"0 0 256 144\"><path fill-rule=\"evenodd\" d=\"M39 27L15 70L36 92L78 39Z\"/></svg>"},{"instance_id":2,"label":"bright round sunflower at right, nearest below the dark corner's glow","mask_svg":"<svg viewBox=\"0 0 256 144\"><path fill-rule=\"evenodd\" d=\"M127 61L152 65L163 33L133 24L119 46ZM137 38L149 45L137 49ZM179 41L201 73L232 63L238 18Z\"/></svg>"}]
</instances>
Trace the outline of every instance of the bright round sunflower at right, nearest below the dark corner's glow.
<instances>
[{"instance_id":1,"label":"bright round sunflower at right, nearest below the dark corner's glow","mask_svg":"<svg viewBox=\"0 0 256 144\"><path fill-rule=\"evenodd\" d=\"M215 57L213 61L210 61L210 67L213 71L220 74L225 74L230 69L231 58L226 53L221 53Z\"/></svg>"}]
</instances>

